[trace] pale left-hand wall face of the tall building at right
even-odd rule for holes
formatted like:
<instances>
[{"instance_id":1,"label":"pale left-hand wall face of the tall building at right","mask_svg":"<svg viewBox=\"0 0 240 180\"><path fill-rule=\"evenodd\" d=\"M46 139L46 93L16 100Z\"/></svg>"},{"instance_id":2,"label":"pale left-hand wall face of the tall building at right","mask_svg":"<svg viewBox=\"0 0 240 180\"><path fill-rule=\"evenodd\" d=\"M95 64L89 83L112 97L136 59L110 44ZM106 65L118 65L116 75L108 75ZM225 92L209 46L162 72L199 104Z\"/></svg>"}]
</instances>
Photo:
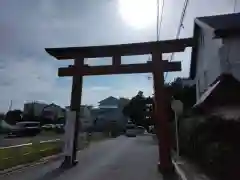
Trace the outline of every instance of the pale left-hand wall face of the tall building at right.
<instances>
[{"instance_id":1,"label":"pale left-hand wall face of the tall building at right","mask_svg":"<svg viewBox=\"0 0 240 180\"><path fill-rule=\"evenodd\" d=\"M222 71L219 59L219 48L222 46L222 40L213 39L211 31L201 30L198 43L195 79L197 100Z\"/></svg>"}]
</instances>

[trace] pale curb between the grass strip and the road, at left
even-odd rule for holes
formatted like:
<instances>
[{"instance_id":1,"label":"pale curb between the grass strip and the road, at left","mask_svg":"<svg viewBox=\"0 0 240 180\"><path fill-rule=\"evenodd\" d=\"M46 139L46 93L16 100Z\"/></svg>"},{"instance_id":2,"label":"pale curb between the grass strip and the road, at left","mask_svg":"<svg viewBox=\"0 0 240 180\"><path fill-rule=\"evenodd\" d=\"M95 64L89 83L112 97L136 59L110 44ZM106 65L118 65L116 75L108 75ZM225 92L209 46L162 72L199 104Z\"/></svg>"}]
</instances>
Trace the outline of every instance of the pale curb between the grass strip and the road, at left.
<instances>
[{"instance_id":1,"label":"pale curb between the grass strip and the road, at left","mask_svg":"<svg viewBox=\"0 0 240 180\"><path fill-rule=\"evenodd\" d=\"M62 159L64 156L63 154L56 154L56 155L52 155L52 156L48 156L48 157L44 157L38 161L35 161L35 162L32 162L32 163L27 163L27 164L23 164L23 165L18 165L18 166L15 166L15 167L12 167L12 168L9 168L9 169L5 169L5 170L2 170L0 171L0 175L4 176L4 175L9 175L13 172L18 172L20 170L23 170L25 168L29 168L29 167L34 167L34 166L37 166L37 165L40 165L40 164L46 164L50 161L57 161L57 160L60 160Z\"/></svg>"}]
</instances>

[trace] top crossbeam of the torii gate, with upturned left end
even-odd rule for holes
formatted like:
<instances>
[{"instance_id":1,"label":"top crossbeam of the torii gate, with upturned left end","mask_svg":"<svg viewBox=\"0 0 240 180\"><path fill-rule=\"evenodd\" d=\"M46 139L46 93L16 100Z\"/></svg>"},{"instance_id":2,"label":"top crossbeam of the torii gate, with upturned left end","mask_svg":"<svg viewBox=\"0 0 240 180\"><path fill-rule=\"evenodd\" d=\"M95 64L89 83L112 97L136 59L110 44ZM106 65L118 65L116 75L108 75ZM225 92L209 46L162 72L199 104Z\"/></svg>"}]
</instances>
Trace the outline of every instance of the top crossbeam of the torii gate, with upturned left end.
<instances>
[{"instance_id":1,"label":"top crossbeam of the torii gate, with upturned left end","mask_svg":"<svg viewBox=\"0 0 240 180\"><path fill-rule=\"evenodd\" d=\"M77 58L113 57L116 55L144 55L153 51L161 53L181 52L186 47L192 46L192 38L153 41L144 43L90 46L90 47L67 47L67 48L46 48L46 51L59 60Z\"/></svg>"}]
</instances>

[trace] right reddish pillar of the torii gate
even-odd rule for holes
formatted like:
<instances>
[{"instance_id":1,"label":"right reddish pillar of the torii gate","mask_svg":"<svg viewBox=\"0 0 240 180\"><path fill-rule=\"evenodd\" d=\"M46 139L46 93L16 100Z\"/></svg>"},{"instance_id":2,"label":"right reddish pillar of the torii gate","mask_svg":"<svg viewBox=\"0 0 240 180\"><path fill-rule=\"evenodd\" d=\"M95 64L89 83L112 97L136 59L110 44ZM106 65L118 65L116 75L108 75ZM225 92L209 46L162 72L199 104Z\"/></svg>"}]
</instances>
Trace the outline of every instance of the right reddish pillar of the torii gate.
<instances>
[{"instance_id":1,"label":"right reddish pillar of the torii gate","mask_svg":"<svg viewBox=\"0 0 240 180\"><path fill-rule=\"evenodd\" d=\"M159 162L158 169L161 172L173 170L171 162L170 127L168 126L169 111L167 109L167 94L164 89L164 71L162 53L153 52L153 84L154 84L154 119L158 137Z\"/></svg>"}]
</instances>

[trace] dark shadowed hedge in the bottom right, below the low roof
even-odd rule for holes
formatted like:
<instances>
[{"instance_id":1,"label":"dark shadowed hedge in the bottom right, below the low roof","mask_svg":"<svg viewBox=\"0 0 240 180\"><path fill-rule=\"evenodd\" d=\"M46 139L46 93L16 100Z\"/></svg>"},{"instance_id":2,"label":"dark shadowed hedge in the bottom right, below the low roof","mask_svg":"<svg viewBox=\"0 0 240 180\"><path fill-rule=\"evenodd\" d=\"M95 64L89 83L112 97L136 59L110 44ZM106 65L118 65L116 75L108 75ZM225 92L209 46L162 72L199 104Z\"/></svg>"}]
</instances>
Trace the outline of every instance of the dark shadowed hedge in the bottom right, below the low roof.
<instances>
[{"instance_id":1,"label":"dark shadowed hedge in the bottom right, below the low roof","mask_svg":"<svg viewBox=\"0 0 240 180\"><path fill-rule=\"evenodd\" d=\"M237 175L240 122L217 117L184 119L179 132L183 155L219 178L229 179Z\"/></svg>"}]
</instances>

